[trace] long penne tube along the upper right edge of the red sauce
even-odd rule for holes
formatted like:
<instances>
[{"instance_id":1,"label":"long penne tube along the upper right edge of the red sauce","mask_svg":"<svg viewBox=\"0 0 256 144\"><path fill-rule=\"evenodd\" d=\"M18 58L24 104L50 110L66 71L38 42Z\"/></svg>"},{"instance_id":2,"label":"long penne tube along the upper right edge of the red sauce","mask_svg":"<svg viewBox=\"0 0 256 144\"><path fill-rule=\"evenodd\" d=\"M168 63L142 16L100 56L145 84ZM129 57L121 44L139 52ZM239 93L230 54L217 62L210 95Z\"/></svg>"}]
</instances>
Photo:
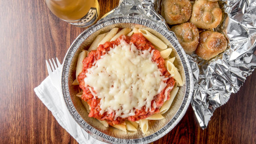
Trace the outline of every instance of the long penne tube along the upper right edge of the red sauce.
<instances>
[{"instance_id":1,"label":"long penne tube along the upper right edge of the red sauce","mask_svg":"<svg viewBox=\"0 0 256 144\"><path fill-rule=\"evenodd\" d=\"M154 44L156 47L160 48L161 50L165 50L167 49L167 45L160 40L158 37L156 37L155 35L151 34L149 31L145 30L145 29L138 29L138 31L140 33L143 34L143 36L149 40L152 44Z\"/></svg>"}]
</instances>

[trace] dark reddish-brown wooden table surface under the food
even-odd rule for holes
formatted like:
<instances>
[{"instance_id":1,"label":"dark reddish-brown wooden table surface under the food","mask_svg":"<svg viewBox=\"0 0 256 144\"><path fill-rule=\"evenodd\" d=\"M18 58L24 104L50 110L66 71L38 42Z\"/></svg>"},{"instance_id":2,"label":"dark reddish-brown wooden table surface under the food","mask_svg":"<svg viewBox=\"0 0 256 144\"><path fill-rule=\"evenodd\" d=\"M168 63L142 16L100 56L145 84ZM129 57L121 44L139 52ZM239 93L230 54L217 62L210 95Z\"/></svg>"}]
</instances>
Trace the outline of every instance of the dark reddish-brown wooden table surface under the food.
<instances>
[{"instance_id":1,"label":"dark reddish-brown wooden table surface under the food","mask_svg":"<svg viewBox=\"0 0 256 144\"><path fill-rule=\"evenodd\" d=\"M118 0L100 0L101 16ZM58 19L42 0L0 1L0 143L77 143L35 95L45 60L64 59L85 28ZM191 106L179 124L154 143L256 143L256 73L203 130Z\"/></svg>"}]
</instances>

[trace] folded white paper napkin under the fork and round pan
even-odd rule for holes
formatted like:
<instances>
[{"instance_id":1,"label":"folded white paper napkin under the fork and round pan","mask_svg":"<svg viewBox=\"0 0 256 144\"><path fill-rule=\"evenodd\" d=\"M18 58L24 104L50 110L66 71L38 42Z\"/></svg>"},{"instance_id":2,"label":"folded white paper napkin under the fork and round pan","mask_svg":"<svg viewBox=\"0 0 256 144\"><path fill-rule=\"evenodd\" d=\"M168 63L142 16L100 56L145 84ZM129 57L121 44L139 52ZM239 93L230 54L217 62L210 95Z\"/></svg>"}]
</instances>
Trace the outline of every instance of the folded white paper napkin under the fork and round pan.
<instances>
[{"instance_id":1,"label":"folded white paper napkin under the fork and round pan","mask_svg":"<svg viewBox=\"0 0 256 144\"><path fill-rule=\"evenodd\" d=\"M104 143L89 135L88 140L86 140L86 131L80 128L77 122L75 122L66 106L64 106L65 108L62 109L62 106L65 105L65 103L61 102L60 100L60 98L62 98L61 89L57 89L55 86L53 86L49 76L44 79L38 87L34 88L34 91L43 104L46 105L46 107L52 112L52 115L55 117L61 127L66 129L66 131L71 134L71 136L75 138L78 143Z\"/></svg>"}]
</instances>

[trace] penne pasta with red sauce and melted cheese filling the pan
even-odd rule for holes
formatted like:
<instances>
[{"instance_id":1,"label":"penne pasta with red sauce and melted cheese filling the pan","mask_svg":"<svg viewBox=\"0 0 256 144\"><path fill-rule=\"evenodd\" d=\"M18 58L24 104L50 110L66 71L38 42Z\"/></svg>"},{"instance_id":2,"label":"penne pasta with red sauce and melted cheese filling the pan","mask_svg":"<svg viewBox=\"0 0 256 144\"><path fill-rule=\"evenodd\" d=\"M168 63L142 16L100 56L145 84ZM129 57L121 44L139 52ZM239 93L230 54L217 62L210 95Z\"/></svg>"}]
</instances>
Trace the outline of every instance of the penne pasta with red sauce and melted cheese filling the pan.
<instances>
[{"instance_id":1,"label":"penne pasta with red sauce and melted cheese filling the pan","mask_svg":"<svg viewBox=\"0 0 256 144\"><path fill-rule=\"evenodd\" d=\"M105 127L147 133L148 120L163 119L182 85L172 48L144 29L125 28L96 37L79 54L78 93L89 117Z\"/></svg>"}]
</instances>

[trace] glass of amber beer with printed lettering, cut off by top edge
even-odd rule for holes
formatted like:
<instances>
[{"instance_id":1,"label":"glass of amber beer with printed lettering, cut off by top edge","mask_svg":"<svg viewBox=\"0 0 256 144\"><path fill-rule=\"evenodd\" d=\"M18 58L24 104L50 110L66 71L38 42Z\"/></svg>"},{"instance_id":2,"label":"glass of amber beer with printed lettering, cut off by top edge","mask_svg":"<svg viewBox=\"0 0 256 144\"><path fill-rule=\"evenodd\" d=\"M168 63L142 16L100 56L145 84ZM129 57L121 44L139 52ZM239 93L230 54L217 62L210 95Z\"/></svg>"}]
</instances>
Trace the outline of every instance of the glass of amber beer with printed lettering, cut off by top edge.
<instances>
[{"instance_id":1,"label":"glass of amber beer with printed lettering, cut off by top edge","mask_svg":"<svg viewBox=\"0 0 256 144\"><path fill-rule=\"evenodd\" d=\"M97 0L46 0L46 4L57 17L79 27L92 25L100 14Z\"/></svg>"}]
</instances>

